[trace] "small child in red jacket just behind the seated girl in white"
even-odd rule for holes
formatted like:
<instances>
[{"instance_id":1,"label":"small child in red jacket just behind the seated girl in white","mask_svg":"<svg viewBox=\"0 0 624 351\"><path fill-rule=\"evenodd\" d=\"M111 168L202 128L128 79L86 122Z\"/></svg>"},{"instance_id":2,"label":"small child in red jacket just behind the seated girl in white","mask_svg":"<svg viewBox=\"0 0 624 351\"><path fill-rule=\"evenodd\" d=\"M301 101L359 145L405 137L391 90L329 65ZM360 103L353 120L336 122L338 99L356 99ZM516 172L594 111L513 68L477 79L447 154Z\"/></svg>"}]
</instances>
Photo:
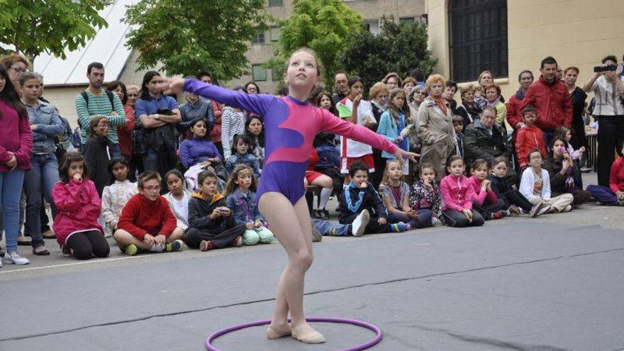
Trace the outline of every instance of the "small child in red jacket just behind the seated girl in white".
<instances>
[{"instance_id":1,"label":"small child in red jacket just behind the seated girl in white","mask_svg":"<svg viewBox=\"0 0 624 351\"><path fill-rule=\"evenodd\" d=\"M529 165L527 160L530 150L540 150L542 158L547 157L544 133L535 126L535 121L537 121L537 110L535 107L526 106L523 108L522 118L524 126L516 131L516 158L520 165L520 173Z\"/></svg>"}]
</instances>

